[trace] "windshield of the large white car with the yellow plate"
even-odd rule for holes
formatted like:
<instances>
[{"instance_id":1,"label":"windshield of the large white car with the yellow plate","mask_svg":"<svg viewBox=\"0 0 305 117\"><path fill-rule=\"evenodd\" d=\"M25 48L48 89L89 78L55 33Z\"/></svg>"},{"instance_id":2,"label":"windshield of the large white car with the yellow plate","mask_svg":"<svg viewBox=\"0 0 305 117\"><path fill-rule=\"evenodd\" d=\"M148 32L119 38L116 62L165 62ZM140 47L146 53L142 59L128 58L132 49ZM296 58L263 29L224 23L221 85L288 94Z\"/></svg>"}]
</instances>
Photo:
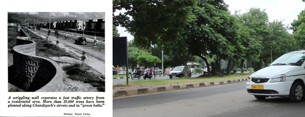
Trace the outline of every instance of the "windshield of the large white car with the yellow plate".
<instances>
[{"instance_id":1,"label":"windshield of the large white car with the yellow plate","mask_svg":"<svg viewBox=\"0 0 305 117\"><path fill-rule=\"evenodd\" d=\"M305 52L286 53L274 60L271 65L295 65L301 66L305 60Z\"/></svg>"}]
</instances>

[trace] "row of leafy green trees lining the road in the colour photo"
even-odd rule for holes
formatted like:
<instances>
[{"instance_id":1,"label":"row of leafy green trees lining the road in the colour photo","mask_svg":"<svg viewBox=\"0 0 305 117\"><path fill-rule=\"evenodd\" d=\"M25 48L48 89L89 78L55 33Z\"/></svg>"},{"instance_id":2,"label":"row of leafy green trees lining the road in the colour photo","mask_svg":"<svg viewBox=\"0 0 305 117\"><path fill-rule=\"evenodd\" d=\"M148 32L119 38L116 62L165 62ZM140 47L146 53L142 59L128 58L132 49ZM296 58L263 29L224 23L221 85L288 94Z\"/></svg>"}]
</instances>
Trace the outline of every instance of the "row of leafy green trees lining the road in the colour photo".
<instances>
[{"instance_id":1,"label":"row of leafy green trees lining the road in the colour photo","mask_svg":"<svg viewBox=\"0 0 305 117\"><path fill-rule=\"evenodd\" d=\"M223 0L113 0L113 12L122 9L127 12L113 14L113 27L125 27L135 36L136 46L149 49L151 43L157 44L168 60L179 60L185 67L199 57L208 69L212 64L213 74L242 69L245 60L249 60L250 69L259 70L272 58L304 47L305 24L300 23L300 18L305 18L303 12L292 24L297 30L293 40L282 21L268 22L265 10L250 8L246 13L231 14ZM228 61L224 70L221 60Z\"/></svg>"}]
</instances>

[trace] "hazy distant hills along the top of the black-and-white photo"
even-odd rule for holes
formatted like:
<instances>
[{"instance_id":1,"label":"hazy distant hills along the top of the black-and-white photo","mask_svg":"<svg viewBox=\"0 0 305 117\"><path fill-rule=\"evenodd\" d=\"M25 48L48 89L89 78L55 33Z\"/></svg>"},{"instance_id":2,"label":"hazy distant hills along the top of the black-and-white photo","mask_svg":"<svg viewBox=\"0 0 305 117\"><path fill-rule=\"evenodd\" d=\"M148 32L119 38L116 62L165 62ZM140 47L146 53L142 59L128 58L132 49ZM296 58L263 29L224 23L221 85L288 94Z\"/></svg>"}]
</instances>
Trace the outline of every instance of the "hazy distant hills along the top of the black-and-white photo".
<instances>
[{"instance_id":1,"label":"hazy distant hills along the top of the black-and-white photo","mask_svg":"<svg viewBox=\"0 0 305 117\"><path fill-rule=\"evenodd\" d=\"M29 19L30 23L35 21L39 23L49 22L49 12L9 12L9 23L22 23ZM89 19L105 19L104 12L51 12L51 22L82 20L88 22Z\"/></svg>"}]
</instances>

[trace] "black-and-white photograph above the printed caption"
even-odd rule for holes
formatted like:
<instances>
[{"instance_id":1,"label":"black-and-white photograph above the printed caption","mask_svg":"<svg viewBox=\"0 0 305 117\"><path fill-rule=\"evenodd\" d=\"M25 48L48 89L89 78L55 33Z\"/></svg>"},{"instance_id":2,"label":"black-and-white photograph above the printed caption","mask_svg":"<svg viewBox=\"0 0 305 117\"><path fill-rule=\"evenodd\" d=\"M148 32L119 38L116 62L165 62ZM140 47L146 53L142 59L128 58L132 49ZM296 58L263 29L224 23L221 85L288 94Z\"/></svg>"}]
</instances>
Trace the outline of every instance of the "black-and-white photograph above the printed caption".
<instances>
[{"instance_id":1,"label":"black-and-white photograph above the printed caption","mask_svg":"<svg viewBox=\"0 0 305 117\"><path fill-rule=\"evenodd\" d=\"M105 12L8 12L9 92L105 92Z\"/></svg>"}]
</instances>

